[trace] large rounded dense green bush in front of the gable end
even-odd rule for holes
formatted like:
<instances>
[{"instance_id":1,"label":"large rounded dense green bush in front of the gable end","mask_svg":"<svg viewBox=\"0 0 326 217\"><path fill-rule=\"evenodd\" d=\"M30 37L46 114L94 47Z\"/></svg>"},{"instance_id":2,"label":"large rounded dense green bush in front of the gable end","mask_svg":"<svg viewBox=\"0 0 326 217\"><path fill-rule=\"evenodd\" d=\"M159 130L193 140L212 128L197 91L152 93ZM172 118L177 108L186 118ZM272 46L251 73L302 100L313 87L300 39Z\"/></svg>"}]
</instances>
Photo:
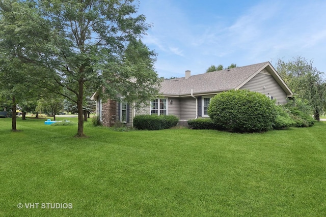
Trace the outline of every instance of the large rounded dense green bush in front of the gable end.
<instances>
[{"instance_id":1,"label":"large rounded dense green bush in front of the gable end","mask_svg":"<svg viewBox=\"0 0 326 217\"><path fill-rule=\"evenodd\" d=\"M208 115L214 123L232 132L262 132L273 129L275 102L249 90L229 90L211 99Z\"/></svg>"}]
</instances>

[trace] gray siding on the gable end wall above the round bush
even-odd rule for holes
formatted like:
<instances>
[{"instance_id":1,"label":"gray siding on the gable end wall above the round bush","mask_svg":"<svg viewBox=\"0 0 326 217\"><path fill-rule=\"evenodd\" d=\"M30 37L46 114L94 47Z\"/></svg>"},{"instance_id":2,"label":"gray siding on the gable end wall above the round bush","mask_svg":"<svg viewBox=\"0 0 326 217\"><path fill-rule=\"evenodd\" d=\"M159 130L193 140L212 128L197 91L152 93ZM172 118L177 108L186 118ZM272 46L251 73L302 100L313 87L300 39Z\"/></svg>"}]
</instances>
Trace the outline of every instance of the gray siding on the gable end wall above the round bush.
<instances>
[{"instance_id":1,"label":"gray siding on the gable end wall above the round bush","mask_svg":"<svg viewBox=\"0 0 326 217\"><path fill-rule=\"evenodd\" d=\"M265 87L265 89L263 88ZM277 104L286 104L287 95L269 73L260 72L240 89L249 89L273 97Z\"/></svg>"}]
</instances>

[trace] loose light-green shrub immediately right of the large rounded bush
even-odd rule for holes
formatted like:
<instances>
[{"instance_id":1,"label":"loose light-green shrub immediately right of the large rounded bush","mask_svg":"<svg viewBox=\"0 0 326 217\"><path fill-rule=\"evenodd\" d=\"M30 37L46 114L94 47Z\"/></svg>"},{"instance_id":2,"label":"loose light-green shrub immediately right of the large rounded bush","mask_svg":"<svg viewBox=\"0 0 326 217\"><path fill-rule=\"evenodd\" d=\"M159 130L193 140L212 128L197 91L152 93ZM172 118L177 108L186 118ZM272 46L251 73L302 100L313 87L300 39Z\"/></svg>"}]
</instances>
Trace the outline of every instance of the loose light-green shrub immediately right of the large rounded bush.
<instances>
[{"instance_id":1,"label":"loose light-green shrub immediately right of the large rounded bush","mask_svg":"<svg viewBox=\"0 0 326 217\"><path fill-rule=\"evenodd\" d=\"M290 116L290 109L284 106L276 106L276 112L277 116L273 123L275 130L283 130L295 126L295 121Z\"/></svg>"}]
</instances>

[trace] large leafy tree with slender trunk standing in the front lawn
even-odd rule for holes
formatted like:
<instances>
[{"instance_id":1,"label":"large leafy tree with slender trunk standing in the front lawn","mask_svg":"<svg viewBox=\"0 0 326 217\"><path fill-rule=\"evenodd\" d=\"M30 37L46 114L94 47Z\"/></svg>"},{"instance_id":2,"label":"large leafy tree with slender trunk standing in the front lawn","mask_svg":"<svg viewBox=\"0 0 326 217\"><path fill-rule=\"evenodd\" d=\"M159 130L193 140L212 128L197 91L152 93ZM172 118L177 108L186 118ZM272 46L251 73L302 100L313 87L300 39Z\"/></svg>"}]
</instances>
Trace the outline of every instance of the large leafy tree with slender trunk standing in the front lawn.
<instances>
[{"instance_id":1,"label":"large leafy tree with slender trunk standing in the front lawn","mask_svg":"<svg viewBox=\"0 0 326 217\"><path fill-rule=\"evenodd\" d=\"M3 1L0 7L2 19L8 23L0 29L4 37L23 42L33 54L13 50L11 55L44 67L35 76L37 85L77 105L76 136L84 136L86 89L104 89L99 91L103 98L116 99L118 93L123 94L136 107L157 95L156 54L140 41L150 26L144 15L135 15L133 0ZM133 61L136 59L141 61ZM64 91L58 90L58 85Z\"/></svg>"}]
</instances>

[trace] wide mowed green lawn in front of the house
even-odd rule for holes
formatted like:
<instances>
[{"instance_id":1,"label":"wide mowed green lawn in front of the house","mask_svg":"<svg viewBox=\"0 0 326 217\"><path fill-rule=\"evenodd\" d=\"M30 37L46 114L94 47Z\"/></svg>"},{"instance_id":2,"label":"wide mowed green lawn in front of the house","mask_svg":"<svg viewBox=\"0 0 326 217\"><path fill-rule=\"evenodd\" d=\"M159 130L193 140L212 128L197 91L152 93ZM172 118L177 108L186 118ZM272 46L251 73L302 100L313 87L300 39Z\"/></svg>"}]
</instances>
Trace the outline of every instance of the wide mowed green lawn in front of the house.
<instances>
[{"instance_id":1,"label":"wide mowed green lawn in front of the house","mask_svg":"<svg viewBox=\"0 0 326 217\"><path fill-rule=\"evenodd\" d=\"M89 122L74 138L77 126L44 120L11 132L0 118L0 216L326 216L326 123L231 134Z\"/></svg>"}]
</instances>

